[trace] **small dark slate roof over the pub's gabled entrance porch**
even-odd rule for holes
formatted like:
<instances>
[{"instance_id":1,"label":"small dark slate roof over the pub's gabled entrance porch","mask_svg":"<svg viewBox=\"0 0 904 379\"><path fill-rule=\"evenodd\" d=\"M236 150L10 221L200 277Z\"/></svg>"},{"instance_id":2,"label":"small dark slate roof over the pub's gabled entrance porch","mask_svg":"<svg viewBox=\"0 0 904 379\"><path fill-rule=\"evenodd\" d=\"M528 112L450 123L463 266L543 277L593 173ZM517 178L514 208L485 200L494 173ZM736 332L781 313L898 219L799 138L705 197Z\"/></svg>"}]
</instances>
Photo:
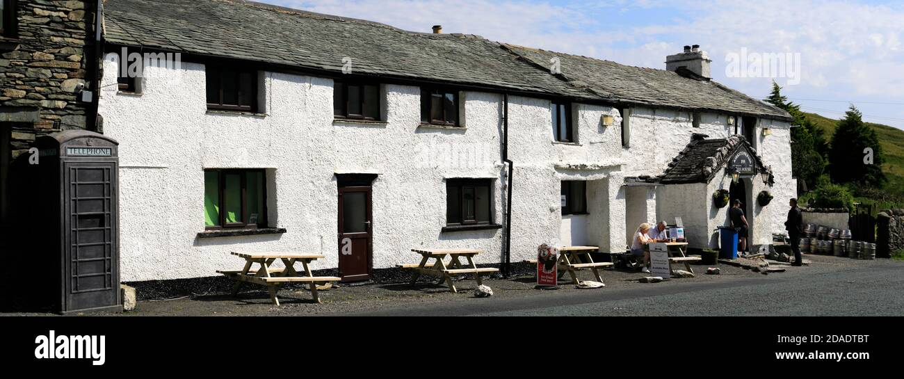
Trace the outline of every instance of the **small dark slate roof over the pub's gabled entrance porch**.
<instances>
[{"instance_id":1,"label":"small dark slate roof over the pub's gabled entrance porch","mask_svg":"<svg viewBox=\"0 0 904 379\"><path fill-rule=\"evenodd\" d=\"M744 137L706 139L706 135L694 134L691 143L675 156L672 163L658 182L664 185L682 185L691 183L708 183L730 157L739 149L746 148L757 161L757 166L764 169L762 159L750 147Z\"/></svg>"}]
</instances>

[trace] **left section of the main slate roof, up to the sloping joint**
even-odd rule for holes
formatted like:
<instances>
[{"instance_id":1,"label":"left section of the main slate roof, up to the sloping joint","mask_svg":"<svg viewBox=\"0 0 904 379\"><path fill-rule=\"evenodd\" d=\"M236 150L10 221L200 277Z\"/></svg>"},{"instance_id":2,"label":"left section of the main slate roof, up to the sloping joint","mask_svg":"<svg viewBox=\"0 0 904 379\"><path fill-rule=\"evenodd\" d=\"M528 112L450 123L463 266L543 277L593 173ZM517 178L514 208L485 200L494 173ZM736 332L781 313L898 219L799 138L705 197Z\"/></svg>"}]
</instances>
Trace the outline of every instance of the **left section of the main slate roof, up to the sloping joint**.
<instances>
[{"instance_id":1,"label":"left section of the main slate roof, up to the sloping joint","mask_svg":"<svg viewBox=\"0 0 904 379\"><path fill-rule=\"evenodd\" d=\"M108 0L108 43L409 80L595 99L476 35L413 33L386 24L229 0Z\"/></svg>"}]
</instances>

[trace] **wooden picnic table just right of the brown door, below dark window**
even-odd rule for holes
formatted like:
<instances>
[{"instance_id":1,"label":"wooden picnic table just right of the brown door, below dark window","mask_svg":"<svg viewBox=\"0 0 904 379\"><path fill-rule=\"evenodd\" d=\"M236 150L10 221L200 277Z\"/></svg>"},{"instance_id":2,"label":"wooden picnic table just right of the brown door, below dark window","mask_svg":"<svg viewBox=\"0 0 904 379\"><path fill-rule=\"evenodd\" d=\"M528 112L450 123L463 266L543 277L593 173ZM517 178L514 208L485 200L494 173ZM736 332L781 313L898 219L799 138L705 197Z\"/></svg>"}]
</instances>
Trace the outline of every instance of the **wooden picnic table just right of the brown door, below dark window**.
<instances>
[{"instance_id":1,"label":"wooden picnic table just right of the brown door, below dark window","mask_svg":"<svg viewBox=\"0 0 904 379\"><path fill-rule=\"evenodd\" d=\"M412 285L418 281L420 275L429 275L440 278L437 284L446 282L449 289L451 289L453 293L457 293L458 290L455 288L455 283L452 282L453 275L475 274L477 285L481 286L484 284L483 280L480 278L482 274L499 272L499 269L477 268L474 263L474 256L483 252L481 250L411 249L411 251L420 254L420 263L400 264L397 267L414 271L411 273ZM447 257L449 258L448 262L446 261ZM465 258L467 262L462 263L462 258Z\"/></svg>"}]
</instances>

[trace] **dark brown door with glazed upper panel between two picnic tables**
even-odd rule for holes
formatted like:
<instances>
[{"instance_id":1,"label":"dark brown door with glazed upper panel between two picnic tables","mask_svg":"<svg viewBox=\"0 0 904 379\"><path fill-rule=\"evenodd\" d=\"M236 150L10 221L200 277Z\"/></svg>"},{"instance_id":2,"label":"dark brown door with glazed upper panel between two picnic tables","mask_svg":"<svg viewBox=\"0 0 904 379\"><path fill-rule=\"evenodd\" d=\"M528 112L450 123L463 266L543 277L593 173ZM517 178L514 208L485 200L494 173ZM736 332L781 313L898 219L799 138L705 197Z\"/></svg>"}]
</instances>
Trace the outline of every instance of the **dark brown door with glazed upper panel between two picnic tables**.
<instances>
[{"instance_id":1,"label":"dark brown door with glazed upper panel between two picnic tables","mask_svg":"<svg viewBox=\"0 0 904 379\"><path fill-rule=\"evenodd\" d=\"M372 177L339 176L339 277L343 281L372 276Z\"/></svg>"}]
</instances>

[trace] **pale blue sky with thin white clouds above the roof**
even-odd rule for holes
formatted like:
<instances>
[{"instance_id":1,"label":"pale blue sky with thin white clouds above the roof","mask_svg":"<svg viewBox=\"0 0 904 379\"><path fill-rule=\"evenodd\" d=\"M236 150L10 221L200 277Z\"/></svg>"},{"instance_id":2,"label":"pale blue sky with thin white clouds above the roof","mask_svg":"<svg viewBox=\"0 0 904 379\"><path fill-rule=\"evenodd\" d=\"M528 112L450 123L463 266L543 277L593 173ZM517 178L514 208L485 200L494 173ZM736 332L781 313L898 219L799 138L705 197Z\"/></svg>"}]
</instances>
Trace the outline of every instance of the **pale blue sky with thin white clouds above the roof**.
<instances>
[{"instance_id":1,"label":"pale blue sky with thin white clouds above the roof","mask_svg":"<svg viewBox=\"0 0 904 379\"><path fill-rule=\"evenodd\" d=\"M864 119L904 128L904 3L886 1L529 1L258 0L429 32L479 34L494 41L664 69L685 44L710 54L712 75L765 97L772 76L739 66L782 54L799 75L775 78L805 111L840 118L854 103ZM734 54L734 55L732 55ZM772 55L775 56L775 55ZM799 58L797 58L799 57ZM794 66L791 66L793 68ZM567 68L563 67L563 71ZM799 82L794 79L799 79Z\"/></svg>"}]
</instances>

